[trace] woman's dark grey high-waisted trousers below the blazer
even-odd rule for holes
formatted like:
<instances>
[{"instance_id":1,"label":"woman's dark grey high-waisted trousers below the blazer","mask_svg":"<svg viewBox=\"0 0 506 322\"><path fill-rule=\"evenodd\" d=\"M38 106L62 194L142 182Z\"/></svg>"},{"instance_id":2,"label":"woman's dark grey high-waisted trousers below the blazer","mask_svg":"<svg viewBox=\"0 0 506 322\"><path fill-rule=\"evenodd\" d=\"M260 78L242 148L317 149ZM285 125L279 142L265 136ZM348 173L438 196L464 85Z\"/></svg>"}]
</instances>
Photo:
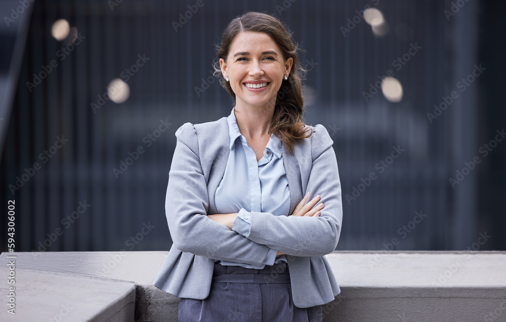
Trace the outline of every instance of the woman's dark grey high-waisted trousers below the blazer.
<instances>
[{"instance_id":1,"label":"woman's dark grey high-waisted trousers below the blazer","mask_svg":"<svg viewBox=\"0 0 506 322\"><path fill-rule=\"evenodd\" d=\"M215 264L209 296L182 298L178 321L321 322L321 305L293 305L286 263L264 269Z\"/></svg>"}]
</instances>

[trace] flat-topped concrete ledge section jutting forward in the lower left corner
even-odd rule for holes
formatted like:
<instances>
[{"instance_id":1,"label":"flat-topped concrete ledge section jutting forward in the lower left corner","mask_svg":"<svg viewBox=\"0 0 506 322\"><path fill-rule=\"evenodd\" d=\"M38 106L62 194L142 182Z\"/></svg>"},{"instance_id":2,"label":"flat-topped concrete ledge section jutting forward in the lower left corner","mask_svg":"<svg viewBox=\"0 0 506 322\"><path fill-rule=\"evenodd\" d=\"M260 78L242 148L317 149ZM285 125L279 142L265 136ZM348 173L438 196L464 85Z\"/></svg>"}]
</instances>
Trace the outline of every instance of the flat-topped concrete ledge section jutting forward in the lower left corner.
<instances>
[{"instance_id":1,"label":"flat-topped concrete ledge section jutting forward in the lower left corner","mask_svg":"<svg viewBox=\"0 0 506 322\"><path fill-rule=\"evenodd\" d=\"M0 269L3 277L8 276L6 266ZM8 313L3 303L2 321L134 321L132 283L26 269L15 272L16 283L3 283L0 292L5 299L9 288L15 287L16 314Z\"/></svg>"}]
</instances>

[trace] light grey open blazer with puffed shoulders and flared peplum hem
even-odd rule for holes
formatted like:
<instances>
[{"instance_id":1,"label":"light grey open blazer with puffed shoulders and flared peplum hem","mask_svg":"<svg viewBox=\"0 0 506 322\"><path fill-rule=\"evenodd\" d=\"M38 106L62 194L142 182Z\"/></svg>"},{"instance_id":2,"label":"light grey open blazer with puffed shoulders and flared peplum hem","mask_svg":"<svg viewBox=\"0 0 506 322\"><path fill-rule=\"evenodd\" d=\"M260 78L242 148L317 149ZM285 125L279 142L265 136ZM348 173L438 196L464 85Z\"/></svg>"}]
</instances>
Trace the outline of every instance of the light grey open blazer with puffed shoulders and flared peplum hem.
<instances>
[{"instance_id":1,"label":"light grey open blazer with puffed shoulders and flared peplum hem","mask_svg":"<svg viewBox=\"0 0 506 322\"><path fill-rule=\"evenodd\" d=\"M338 164L325 127L313 127L311 137L294 145L293 156L283 144L290 213L310 191L309 198L321 196L321 215L274 216L252 211L246 237L206 216L218 213L215 192L230 153L227 118L185 123L176 137L165 199L173 245L153 285L181 298L205 299L215 259L262 265L274 248L286 254L295 306L332 301L340 289L324 255L338 244L343 208ZM275 271L271 277L275 279Z\"/></svg>"}]
</instances>

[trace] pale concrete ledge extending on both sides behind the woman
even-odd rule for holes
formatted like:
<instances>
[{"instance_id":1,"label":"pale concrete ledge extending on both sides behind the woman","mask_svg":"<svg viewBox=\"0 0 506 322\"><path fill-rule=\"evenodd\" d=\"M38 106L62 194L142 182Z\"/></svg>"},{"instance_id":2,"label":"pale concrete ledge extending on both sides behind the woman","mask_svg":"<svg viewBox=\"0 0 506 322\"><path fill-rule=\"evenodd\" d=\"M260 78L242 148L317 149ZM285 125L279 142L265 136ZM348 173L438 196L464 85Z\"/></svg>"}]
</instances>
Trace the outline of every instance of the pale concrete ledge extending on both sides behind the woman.
<instances>
[{"instance_id":1,"label":"pale concrete ledge extending on both sides behind the woman","mask_svg":"<svg viewBox=\"0 0 506 322\"><path fill-rule=\"evenodd\" d=\"M2 294L13 286L7 256L17 256L16 315L4 304L0 320L50 320L68 303L62 321L176 321L179 299L151 285L166 254L2 253ZM342 292L323 307L324 321L506 320L506 252L333 252L327 259Z\"/></svg>"}]
</instances>

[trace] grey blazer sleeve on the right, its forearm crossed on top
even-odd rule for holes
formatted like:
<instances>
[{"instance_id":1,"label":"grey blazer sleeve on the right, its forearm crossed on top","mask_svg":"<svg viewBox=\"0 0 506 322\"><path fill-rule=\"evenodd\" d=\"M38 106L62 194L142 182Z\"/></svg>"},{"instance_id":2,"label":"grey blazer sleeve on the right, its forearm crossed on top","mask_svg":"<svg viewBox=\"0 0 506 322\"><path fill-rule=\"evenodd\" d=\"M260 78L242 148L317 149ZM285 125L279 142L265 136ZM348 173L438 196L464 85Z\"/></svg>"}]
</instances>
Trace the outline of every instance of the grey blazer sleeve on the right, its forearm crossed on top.
<instances>
[{"instance_id":1,"label":"grey blazer sleeve on the right, its forearm crossed on top","mask_svg":"<svg viewBox=\"0 0 506 322\"><path fill-rule=\"evenodd\" d=\"M325 127L316 125L311 136L312 164L307 191L311 192L310 198L321 196L324 207L320 216L275 216L251 211L246 238L293 256L323 256L335 250L341 234L343 205L332 143Z\"/></svg>"}]
</instances>

